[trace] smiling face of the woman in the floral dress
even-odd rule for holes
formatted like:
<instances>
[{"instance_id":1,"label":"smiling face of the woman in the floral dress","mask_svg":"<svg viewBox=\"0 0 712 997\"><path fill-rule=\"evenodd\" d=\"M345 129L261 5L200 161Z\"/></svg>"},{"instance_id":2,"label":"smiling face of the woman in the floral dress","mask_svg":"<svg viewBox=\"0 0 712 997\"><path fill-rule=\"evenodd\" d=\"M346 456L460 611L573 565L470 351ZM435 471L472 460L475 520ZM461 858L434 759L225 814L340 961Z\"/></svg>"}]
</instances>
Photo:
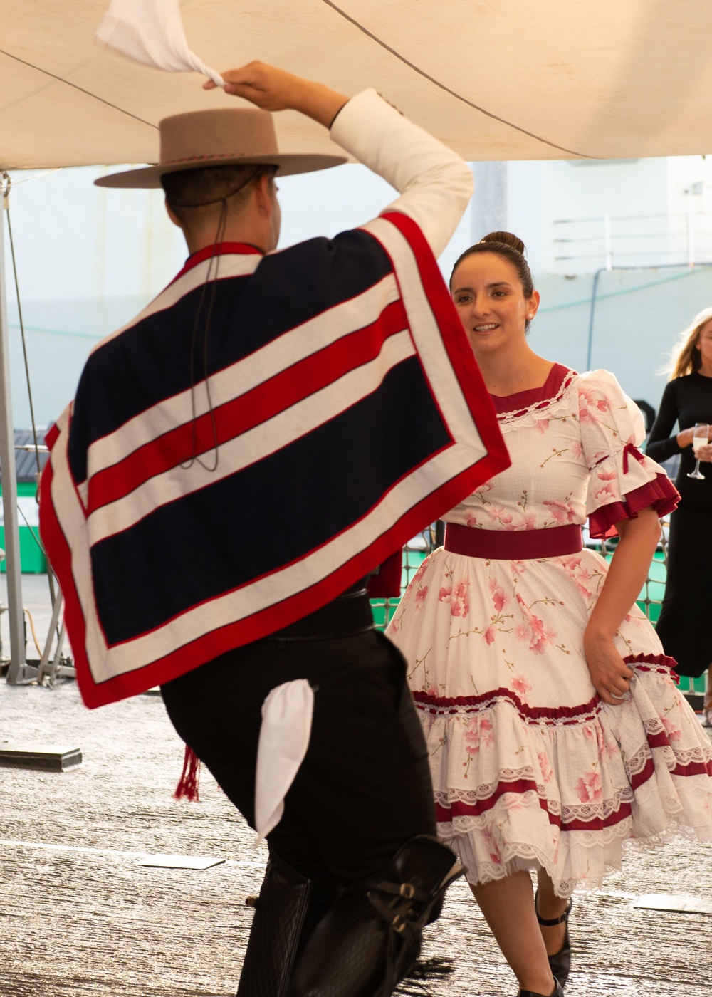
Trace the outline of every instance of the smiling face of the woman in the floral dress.
<instances>
[{"instance_id":1,"label":"smiling face of the woman in the floral dress","mask_svg":"<svg viewBox=\"0 0 712 997\"><path fill-rule=\"evenodd\" d=\"M538 292L525 297L517 268L495 252L466 256L453 274L451 293L475 354L526 342L526 325Z\"/></svg>"}]
</instances>

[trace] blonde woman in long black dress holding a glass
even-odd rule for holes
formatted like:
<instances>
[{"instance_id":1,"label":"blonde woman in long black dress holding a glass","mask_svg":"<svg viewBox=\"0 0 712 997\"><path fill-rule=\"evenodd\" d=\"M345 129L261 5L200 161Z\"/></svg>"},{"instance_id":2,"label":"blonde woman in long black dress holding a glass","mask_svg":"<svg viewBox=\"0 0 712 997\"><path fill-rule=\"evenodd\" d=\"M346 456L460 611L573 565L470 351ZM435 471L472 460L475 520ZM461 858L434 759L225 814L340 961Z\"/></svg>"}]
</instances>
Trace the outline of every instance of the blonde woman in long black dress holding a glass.
<instances>
[{"instance_id":1,"label":"blonde woman in long black dress holding a glass","mask_svg":"<svg viewBox=\"0 0 712 997\"><path fill-rule=\"evenodd\" d=\"M712 662L712 445L697 452L705 480L688 478L695 466L695 423L712 425L712 308L696 315L682 334L645 451L658 463L680 454L675 485L681 501L670 518L667 584L657 633L665 654L678 662L678 672L689 676L701 675ZM671 435L675 424L679 432ZM704 722L712 726L710 672Z\"/></svg>"}]
</instances>

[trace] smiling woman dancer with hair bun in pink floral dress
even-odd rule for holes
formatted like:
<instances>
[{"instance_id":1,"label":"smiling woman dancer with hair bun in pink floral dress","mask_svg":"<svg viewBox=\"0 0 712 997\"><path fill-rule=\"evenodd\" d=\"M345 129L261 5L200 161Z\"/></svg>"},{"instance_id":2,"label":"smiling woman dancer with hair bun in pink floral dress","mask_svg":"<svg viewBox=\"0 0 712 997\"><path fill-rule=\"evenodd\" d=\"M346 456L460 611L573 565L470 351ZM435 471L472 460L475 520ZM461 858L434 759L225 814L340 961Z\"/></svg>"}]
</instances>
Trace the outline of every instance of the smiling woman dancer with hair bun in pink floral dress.
<instances>
[{"instance_id":1,"label":"smiling woman dancer with hair bun in pink floral dress","mask_svg":"<svg viewBox=\"0 0 712 997\"><path fill-rule=\"evenodd\" d=\"M637 450L642 420L615 378L528 345L539 299L520 239L468 249L451 291L513 464L444 516L445 547L389 635L409 663L439 832L521 997L560 994L576 883L619 867L632 837L712 838L710 744L634 604L676 493ZM617 529L609 568L581 549L586 515L593 536Z\"/></svg>"}]
</instances>

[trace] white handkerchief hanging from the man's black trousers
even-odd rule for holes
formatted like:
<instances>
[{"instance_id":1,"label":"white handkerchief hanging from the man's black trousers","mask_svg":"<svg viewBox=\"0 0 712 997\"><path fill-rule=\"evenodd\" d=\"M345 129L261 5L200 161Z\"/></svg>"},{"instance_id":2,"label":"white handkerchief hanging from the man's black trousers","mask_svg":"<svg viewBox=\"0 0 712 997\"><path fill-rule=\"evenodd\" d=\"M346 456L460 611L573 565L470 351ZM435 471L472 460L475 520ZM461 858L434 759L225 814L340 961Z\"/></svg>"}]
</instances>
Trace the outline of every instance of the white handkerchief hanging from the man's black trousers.
<instances>
[{"instance_id":1,"label":"white handkerchief hanging from the man's black trousers","mask_svg":"<svg viewBox=\"0 0 712 997\"><path fill-rule=\"evenodd\" d=\"M258 844L279 824L284 797L309 747L314 691L306 679L275 686L262 703L254 785Z\"/></svg>"}]
</instances>

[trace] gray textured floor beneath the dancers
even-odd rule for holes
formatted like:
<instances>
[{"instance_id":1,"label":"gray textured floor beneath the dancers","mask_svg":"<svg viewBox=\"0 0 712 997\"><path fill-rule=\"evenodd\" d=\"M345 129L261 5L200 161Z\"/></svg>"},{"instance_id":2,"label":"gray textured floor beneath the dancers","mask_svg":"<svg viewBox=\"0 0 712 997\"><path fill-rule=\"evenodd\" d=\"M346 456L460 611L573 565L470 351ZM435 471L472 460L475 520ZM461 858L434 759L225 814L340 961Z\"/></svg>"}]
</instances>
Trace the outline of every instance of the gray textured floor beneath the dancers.
<instances>
[{"instance_id":1,"label":"gray textured floor beneath the dancers","mask_svg":"<svg viewBox=\"0 0 712 997\"><path fill-rule=\"evenodd\" d=\"M43 588L26 582L42 615ZM238 721L238 717L236 718ZM233 994L265 849L209 776L199 805L173 799L182 761L160 697L86 710L73 683L0 682L0 741L78 746L63 774L0 768L0 995ZM216 856L205 870L147 868L157 852ZM633 907L643 893L712 900L712 846L632 852L624 874L576 900L570 997L707 997L712 914ZM467 886L429 929L426 979L401 994L517 993Z\"/></svg>"}]
</instances>

